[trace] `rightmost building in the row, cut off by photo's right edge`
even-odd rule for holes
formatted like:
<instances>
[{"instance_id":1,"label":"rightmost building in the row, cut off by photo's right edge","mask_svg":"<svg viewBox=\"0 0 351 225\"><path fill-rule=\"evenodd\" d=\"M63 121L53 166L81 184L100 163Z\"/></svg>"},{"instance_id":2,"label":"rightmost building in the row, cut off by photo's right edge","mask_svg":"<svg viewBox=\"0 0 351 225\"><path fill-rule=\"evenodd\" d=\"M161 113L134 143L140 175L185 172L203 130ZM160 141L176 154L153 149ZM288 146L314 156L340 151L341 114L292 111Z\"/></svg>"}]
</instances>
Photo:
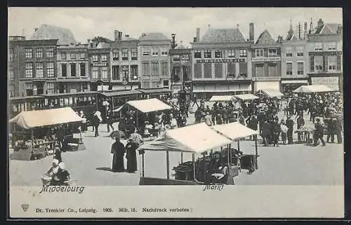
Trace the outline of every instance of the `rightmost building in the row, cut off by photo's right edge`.
<instances>
[{"instance_id":1,"label":"rightmost building in the row, cut off by photo's right edge","mask_svg":"<svg viewBox=\"0 0 351 225\"><path fill-rule=\"evenodd\" d=\"M324 84L333 90L343 90L343 26L324 24L319 19L317 27L307 35L310 84Z\"/></svg>"}]
</instances>

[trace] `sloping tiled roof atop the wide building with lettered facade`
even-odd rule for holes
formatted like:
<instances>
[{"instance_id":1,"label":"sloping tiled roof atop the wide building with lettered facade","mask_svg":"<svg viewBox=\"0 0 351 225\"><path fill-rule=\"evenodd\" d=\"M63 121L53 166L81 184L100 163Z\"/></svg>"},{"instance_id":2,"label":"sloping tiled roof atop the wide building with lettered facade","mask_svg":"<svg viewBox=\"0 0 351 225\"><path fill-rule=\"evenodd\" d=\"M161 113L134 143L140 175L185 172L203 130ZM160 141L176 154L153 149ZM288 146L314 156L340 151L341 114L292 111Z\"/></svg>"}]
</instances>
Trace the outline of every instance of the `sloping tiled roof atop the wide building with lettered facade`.
<instances>
[{"instance_id":1,"label":"sloping tiled roof atop the wide building with lettered facade","mask_svg":"<svg viewBox=\"0 0 351 225\"><path fill-rule=\"evenodd\" d=\"M201 37L201 42L245 41L239 28L237 29L208 29Z\"/></svg>"}]
</instances>

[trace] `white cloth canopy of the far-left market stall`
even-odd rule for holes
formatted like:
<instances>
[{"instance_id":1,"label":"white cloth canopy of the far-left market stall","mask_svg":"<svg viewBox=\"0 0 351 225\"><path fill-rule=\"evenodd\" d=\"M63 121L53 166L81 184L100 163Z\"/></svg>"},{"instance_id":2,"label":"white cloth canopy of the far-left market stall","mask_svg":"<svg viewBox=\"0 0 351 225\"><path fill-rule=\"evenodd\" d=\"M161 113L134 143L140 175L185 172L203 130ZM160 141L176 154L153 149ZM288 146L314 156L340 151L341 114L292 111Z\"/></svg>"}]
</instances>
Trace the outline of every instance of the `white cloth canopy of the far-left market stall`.
<instances>
[{"instance_id":1,"label":"white cloth canopy of the far-left market stall","mask_svg":"<svg viewBox=\"0 0 351 225\"><path fill-rule=\"evenodd\" d=\"M22 128L30 129L79 121L81 121L81 117L78 116L71 107L65 107L58 109L22 111L14 118L11 118L9 123L17 123Z\"/></svg>"}]
</instances>

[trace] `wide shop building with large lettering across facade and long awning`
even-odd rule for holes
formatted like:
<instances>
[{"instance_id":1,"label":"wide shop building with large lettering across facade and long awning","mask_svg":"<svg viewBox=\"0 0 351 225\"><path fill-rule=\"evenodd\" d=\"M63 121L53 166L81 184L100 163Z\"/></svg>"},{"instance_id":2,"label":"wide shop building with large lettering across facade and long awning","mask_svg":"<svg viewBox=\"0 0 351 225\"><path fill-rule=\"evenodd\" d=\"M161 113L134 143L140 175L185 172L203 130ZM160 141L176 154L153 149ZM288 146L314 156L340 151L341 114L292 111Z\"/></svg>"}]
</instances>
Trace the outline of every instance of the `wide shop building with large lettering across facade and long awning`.
<instances>
[{"instance_id":1,"label":"wide shop building with large lettering across facade and long awning","mask_svg":"<svg viewBox=\"0 0 351 225\"><path fill-rule=\"evenodd\" d=\"M253 32L253 31L252 31ZM236 29L200 29L192 42L192 92L197 97L251 93L251 44Z\"/></svg>"}]
</instances>

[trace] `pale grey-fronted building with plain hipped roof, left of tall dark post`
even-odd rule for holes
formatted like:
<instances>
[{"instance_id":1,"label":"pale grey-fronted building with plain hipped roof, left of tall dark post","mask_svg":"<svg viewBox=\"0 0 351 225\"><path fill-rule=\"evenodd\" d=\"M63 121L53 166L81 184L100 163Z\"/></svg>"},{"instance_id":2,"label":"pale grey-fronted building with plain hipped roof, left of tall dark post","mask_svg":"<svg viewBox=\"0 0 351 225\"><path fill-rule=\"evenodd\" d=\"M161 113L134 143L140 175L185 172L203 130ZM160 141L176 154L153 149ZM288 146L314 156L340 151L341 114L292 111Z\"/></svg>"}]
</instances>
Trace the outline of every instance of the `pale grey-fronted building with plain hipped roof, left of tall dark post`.
<instances>
[{"instance_id":1,"label":"pale grey-fronted building with plain hipped roof, left of tall dark post","mask_svg":"<svg viewBox=\"0 0 351 225\"><path fill-rule=\"evenodd\" d=\"M139 47L141 88L169 88L171 73L168 52L171 49L171 39L161 33L142 34Z\"/></svg>"}]
</instances>

